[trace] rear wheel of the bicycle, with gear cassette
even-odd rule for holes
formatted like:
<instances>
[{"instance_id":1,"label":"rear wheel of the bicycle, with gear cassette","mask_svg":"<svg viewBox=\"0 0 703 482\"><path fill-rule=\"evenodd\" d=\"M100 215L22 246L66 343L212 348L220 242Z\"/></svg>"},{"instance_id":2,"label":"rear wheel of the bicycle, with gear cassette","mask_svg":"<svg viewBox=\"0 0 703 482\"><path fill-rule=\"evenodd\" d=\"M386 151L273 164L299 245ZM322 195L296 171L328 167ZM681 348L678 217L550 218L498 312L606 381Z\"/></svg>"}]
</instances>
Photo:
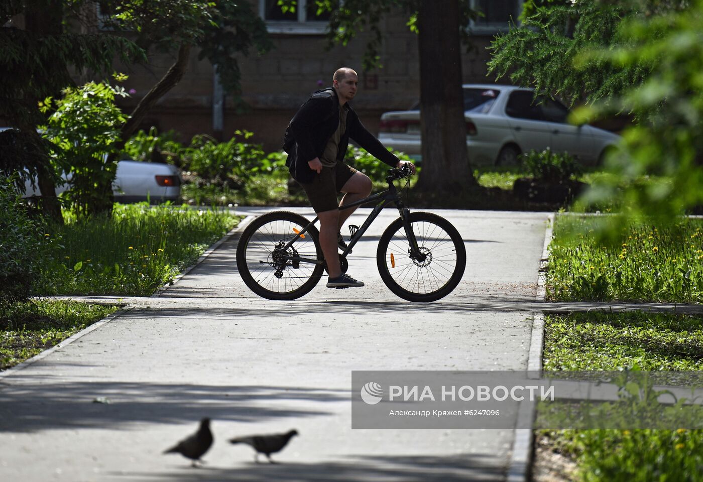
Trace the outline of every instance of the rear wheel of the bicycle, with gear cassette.
<instances>
[{"instance_id":1,"label":"rear wheel of the bicycle, with gear cassette","mask_svg":"<svg viewBox=\"0 0 703 482\"><path fill-rule=\"evenodd\" d=\"M273 211L254 219L237 245L237 268L252 292L266 299L297 299L313 289L324 271L322 264L292 262L277 256L281 247L310 221L290 211ZM288 249L313 259L323 259L318 230L312 226ZM278 257L278 260L276 259ZM278 273L278 275L277 275Z\"/></svg>"}]
</instances>

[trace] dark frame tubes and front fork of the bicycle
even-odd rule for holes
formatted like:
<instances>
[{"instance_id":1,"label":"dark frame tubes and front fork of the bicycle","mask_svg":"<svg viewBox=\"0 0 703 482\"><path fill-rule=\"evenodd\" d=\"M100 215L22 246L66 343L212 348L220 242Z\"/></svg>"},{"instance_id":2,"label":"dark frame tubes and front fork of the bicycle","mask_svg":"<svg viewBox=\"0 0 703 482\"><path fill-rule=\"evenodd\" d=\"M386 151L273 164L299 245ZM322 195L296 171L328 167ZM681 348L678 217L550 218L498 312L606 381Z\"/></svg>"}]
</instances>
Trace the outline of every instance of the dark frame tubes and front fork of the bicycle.
<instances>
[{"instance_id":1,"label":"dark frame tubes and front fork of the bicycle","mask_svg":"<svg viewBox=\"0 0 703 482\"><path fill-rule=\"evenodd\" d=\"M363 236L363 233L366 233L366 230L368 230L369 226L371 226L371 223L378 217L380 212L387 207L389 204L393 203L396 205L396 208L398 209L398 212L401 216L401 219L403 219L403 227L406 232L406 236L408 237L408 240L410 241L410 254L411 258L413 259L418 259L420 261L424 261L425 255L420 253L420 248L418 247L418 241L415 239L415 233L413 233L413 229L410 225L410 222L408 221L408 214L410 214L410 211L404 206L403 200L398 196L398 191L396 190L396 187L393 185L392 181L388 182L388 189L385 191L381 191L380 193L372 194L368 197L364 197L361 200L350 202L349 204L344 204L344 206L340 206L337 209L340 211L344 211L344 209L351 209L352 207L357 207L361 206L361 204L368 204L370 202L377 202L378 204L375 205L373 210L370 212L368 217L366 218L366 221L363 221L363 224L359 226L359 229L356 230L356 233L352 236L352 239L349 240L349 245L347 245L347 249L344 249L344 252L340 256L346 257L349 252L352 251L352 248L354 248L354 245L356 245L357 242L361 239ZM288 241L285 246L282 248L283 252L285 252L286 249L288 249L290 246L295 243L295 241L307 233L309 229L314 226L314 224L318 221L319 217L315 216L315 219L310 221L305 228L303 228L302 231L297 233L290 241ZM323 259L311 259L311 258L303 258L300 256L285 256L286 259L290 259L291 261L303 261L305 263L315 263L315 264L322 264L325 261Z\"/></svg>"}]
</instances>

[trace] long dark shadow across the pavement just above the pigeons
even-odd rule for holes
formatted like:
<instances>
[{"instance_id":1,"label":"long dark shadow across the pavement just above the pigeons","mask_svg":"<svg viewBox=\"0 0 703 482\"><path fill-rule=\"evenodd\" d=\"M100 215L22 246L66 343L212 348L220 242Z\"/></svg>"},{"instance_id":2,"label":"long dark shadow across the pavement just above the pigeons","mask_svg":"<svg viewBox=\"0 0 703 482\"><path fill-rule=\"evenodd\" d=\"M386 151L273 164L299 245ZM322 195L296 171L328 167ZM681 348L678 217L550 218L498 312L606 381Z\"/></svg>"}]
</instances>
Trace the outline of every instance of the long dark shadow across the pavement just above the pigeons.
<instances>
[{"instance_id":1,"label":"long dark shadow across the pavement just above the pigeons","mask_svg":"<svg viewBox=\"0 0 703 482\"><path fill-rule=\"evenodd\" d=\"M53 364L56 370L61 369L60 363ZM277 409L275 404L282 400L344 402L350 396L349 391L344 390L289 386L67 383L56 379L51 382L51 377L46 375L30 375L22 376L21 383L0 384L0 433L70 428L129 429L129 424L141 422L193 422L202 417L237 422L311 417L329 412Z\"/></svg>"}]
</instances>

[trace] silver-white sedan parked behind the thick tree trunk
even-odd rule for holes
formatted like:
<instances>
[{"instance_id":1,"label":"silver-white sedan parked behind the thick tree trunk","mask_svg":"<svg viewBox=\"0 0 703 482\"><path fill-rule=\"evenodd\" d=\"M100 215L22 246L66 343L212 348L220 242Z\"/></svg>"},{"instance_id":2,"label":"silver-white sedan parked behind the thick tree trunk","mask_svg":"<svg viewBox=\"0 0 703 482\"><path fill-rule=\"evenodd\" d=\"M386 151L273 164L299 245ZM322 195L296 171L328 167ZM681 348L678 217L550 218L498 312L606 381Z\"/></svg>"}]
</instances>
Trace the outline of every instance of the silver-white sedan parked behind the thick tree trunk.
<instances>
[{"instance_id":1,"label":"silver-white sedan parked behind the thick tree trunk","mask_svg":"<svg viewBox=\"0 0 703 482\"><path fill-rule=\"evenodd\" d=\"M510 165L522 152L568 152L583 164L602 161L620 136L587 124L567 123L569 110L557 100L534 98L532 89L465 84L466 147L475 164ZM379 141L413 157L422 151L419 104L381 115Z\"/></svg>"}]
</instances>

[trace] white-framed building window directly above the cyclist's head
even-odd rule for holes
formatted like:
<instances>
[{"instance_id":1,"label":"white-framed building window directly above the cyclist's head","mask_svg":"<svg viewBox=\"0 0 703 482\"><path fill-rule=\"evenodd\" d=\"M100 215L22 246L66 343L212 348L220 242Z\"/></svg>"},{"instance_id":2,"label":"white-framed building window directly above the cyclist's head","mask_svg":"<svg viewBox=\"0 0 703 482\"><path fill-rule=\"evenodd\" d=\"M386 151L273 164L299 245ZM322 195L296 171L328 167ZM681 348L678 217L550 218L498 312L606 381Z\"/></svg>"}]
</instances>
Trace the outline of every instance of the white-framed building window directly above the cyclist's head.
<instances>
[{"instance_id":1,"label":"white-framed building window directly above the cyclist's head","mask_svg":"<svg viewBox=\"0 0 703 482\"><path fill-rule=\"evenodd\" d=\"M323 34L330 20L330 12L318 15L315 0L297 0L295 12L285 13L278 0L259 0L259 15L273 34Z\"/></svg>"}]
</instances>

